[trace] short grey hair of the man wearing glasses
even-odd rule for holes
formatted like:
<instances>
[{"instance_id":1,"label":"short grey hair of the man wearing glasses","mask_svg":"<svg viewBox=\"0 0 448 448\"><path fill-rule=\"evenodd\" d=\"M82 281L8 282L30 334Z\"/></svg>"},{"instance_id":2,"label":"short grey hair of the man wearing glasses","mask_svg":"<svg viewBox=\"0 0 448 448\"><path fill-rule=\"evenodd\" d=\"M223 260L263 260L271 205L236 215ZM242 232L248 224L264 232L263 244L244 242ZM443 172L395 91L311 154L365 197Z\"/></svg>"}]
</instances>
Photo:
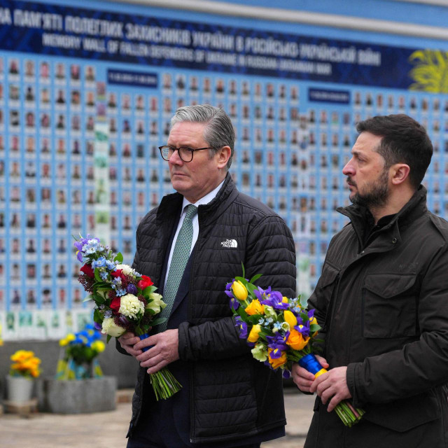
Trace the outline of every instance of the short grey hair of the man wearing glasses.
<instances>
[{"instance_id":1,"label":"short grey hair of the man wearing glasses","mask_svg":"<svg viewBox=\"0 0 448 448\"><path fill-rule=\"evenodd\" d=\"M232 157L235 147L235 130L229 116L220 107L210 104L196 104L195 106L183 106L177 109L171 119L171 127L176 123L189 121L191 123L207 123L204 129L204 140L212 147L209 149L209 157L212 158L223 146L230 146L231 153L226 169L232 165Z\"/></svg>"}]
</instances>

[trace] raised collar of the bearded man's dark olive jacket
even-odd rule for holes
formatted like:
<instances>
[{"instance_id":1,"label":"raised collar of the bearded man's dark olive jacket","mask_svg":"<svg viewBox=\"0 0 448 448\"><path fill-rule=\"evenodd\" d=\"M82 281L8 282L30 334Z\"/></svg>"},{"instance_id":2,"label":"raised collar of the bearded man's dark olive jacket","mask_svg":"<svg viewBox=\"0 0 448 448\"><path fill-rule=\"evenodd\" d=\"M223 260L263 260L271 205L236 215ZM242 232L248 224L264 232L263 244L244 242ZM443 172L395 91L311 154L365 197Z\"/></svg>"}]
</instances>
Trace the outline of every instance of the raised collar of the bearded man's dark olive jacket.
<instances>
[{"instance_id":1,"label":"raised collar of the bearded man's dark olive jacket","mask_svg":"<svg viewBox=\"0 0 448 448\"><path fill-rule=\"evenodd\" d=\"M419 216L423 215L426 211L426 188L424 186L419 186L418 190L412 195L411 199L405 204L400 211L398 211L391 221L384 225L383 228L379 230L381 233L391 233L391 241L393 244L399 243L401 241L400 230L407 227L409 223L412 223ZM365 207L359 205L350 205L349 207L339 207L337 209L339 213L348 216L355 230L358 240L360 241L360 246L363 246L364 228L366 225L366 212Z\"/></svg>"}]
</instances>

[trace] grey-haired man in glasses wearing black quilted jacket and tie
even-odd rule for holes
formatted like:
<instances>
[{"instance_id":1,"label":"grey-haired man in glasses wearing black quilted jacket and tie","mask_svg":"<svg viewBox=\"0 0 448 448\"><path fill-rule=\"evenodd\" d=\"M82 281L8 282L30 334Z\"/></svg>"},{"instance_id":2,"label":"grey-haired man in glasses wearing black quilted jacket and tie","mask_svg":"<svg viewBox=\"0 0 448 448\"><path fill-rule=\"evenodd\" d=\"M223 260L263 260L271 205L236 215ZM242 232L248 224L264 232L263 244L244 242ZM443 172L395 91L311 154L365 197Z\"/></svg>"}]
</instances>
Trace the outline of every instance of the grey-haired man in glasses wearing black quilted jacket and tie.
<instances>
[{"instance_id":1,"label":"grey-haired man in glasses wearing black quilted jacket and tie","mask_svg":"<svg viewBox=\"0 0 448 448\"><path fill-rule=\"evenodd\" d=\"M280 374L253 360L223 290L244 262L246 276L265 274L260 286L293 296L294 242L278 215L235 188L234 142L230 118L205 104L176 111L160 146L178 193L141 221L134 268L169 302L169 319L144 341L119 339L141 365L128 448L249 448L284 434ZM156 402L146 372L166 365L183 388Z\"/></svg>"}]
</instances>

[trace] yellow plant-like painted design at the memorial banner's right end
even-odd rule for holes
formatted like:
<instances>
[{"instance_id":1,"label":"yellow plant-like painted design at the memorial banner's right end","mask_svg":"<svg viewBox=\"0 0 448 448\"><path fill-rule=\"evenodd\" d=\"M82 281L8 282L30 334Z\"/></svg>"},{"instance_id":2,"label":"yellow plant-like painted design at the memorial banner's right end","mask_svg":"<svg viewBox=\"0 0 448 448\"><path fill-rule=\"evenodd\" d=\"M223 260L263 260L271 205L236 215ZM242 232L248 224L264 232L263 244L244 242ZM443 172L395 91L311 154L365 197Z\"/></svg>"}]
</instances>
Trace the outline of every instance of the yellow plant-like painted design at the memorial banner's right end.
<instances>
[{"instance_id":1,"label":"yellow plant-like painted design at the memorial banner's right end","mask_svg":"<svg viewBox=\"0 0 448 448\"><path fill-rule=\"evenodd\" d=\"M423 92L448 92L448 52L440 50L416 50L409 56L414 68L409 76L414 80L409 90Z\"/></svg>"}]
</instances>

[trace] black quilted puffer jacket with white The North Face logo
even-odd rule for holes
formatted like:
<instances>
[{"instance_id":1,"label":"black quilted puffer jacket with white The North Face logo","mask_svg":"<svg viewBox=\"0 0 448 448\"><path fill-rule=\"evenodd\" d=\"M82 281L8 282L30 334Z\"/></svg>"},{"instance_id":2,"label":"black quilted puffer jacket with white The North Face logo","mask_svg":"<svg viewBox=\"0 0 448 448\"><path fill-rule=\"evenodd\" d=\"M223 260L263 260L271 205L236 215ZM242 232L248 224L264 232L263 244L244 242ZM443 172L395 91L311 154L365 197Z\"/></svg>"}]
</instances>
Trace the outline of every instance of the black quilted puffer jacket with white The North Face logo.
<instances>
[{"instance_id":1,"label":"black quilted puffer jacket with white The North Face logo","mask_svg":"<svg viewBox=\"0 0 448 448\"><path fill-rule=\"evenodd\" d=\"M183 197L163 198L137 230L134 267L160 278L167 244ZM225 284L262 273L258 285L295 294L295 246L290 230L274 212L243 195L228 174L216 198L198 208L200 232L193 252L188 316L179 326L179 356L190 378L192 442L219 442L283 426L281 375L253 360L233 323ZM132 425L141 411L145 369L139 370Z\"/></svg>"}]
</instances>

